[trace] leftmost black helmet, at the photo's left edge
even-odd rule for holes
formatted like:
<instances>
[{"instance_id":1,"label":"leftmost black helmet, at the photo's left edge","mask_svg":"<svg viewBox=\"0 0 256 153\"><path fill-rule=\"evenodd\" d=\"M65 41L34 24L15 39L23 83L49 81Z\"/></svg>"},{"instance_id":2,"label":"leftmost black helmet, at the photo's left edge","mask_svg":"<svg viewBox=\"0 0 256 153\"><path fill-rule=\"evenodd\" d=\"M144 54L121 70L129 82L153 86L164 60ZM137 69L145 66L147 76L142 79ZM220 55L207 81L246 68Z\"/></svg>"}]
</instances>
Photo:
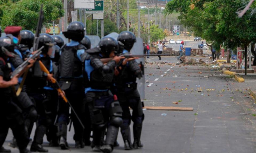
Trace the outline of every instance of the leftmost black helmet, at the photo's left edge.
<instances>
[{"instance_id":1,"label":"leftmost black helmet, at the photo's left edge","mask_svg":"<svg viewBox=\"0 0 256 153\"><path fill-rule=\"evenodd\" d=\"M6 35L5 37L0 38L0 56L9 56L13 57L14 53L14 46L18 44L18 40L13 39L13 36L11 34ZM9 53L6 53L4 50L2 50L2 47L8 50Z\"/></svg>"}]
</instances>

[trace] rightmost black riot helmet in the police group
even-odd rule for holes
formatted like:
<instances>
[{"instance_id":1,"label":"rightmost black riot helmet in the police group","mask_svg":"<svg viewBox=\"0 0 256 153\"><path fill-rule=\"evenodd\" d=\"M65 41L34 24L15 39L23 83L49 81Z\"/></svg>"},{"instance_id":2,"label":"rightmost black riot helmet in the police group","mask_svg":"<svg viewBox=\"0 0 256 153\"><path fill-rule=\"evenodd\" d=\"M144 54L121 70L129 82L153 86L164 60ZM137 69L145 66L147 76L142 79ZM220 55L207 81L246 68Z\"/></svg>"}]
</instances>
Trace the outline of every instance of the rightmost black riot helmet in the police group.
<instances>
[{"instance_id":1,"label":"rightmost black riot helmet in the police group","mask_svg":"<svg viewBox=\"0 0 256 153\"><path fill-rule=\"evenodd\" d=\"M121 41L125 49L130 51L131 48L133 48L133 44L136 42L136 37L129 31L123 31L118 35L117 40Z\"/></svg>"}]
</instances>

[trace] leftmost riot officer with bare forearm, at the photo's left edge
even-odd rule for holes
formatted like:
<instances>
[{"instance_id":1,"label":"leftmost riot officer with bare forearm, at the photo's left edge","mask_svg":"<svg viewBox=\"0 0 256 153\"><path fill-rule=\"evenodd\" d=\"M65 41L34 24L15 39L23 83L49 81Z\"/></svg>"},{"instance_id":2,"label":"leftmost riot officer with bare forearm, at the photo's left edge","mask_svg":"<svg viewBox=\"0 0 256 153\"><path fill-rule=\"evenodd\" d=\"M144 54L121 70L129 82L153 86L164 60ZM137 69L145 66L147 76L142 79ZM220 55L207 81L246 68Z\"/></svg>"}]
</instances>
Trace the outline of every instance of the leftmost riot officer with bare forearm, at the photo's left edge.
<instances>
[{"instance_id":1,"label":"leftmost riot officer with bare forearm, at the photo's left edge","mask_svg":"<svg viewBox=\"0 0 256 153\"><path fill-rule=\"evenodd\" d=\"M25 153L28 152L26 147L29 143L29 137L25 130L22 110L14 103L17 101L17 97L15 96L16 91L11 89L11 86L18 83L18 76L10 78L11 66L7 61L8 58L15 58L17 56L15 54L4 54L1 49L3 46L14 53L15 44L17 44L17 41L14 42L10 37L3 37L0 39L0 120L4 123L0 126L0 151L11 152L2 147L8 129L11 128L14 137L17 139L20 153Z\"/></svg>"}]
</instances>

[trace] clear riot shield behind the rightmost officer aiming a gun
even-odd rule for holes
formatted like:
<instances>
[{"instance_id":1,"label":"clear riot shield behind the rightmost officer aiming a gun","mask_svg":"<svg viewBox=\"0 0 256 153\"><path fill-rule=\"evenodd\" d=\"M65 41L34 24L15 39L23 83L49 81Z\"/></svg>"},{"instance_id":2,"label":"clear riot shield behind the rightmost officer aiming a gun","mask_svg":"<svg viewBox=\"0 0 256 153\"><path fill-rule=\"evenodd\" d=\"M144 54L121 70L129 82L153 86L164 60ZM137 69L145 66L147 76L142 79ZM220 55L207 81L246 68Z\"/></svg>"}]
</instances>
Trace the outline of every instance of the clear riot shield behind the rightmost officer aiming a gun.
<instances>
[{"instance_id":1,"label":"clear riot shield behind the rightmost officer aiming a gun","mask_svg":"<svg viewBox=\"0 0 256 153\"><path fill-rule=\"evenodd\" d=\"M136 43L134 43L133 48L131 49L130 53L133 55L143 55L144 52L143 47L143 40L141 38L136 38ZM145 58L139 58L136 60L138 63L145 64ZM145 75L141 79L137 78L137 88L139 91L139 95L141 96L141 100L145 99Z\"/></svg>"}]
</instances>

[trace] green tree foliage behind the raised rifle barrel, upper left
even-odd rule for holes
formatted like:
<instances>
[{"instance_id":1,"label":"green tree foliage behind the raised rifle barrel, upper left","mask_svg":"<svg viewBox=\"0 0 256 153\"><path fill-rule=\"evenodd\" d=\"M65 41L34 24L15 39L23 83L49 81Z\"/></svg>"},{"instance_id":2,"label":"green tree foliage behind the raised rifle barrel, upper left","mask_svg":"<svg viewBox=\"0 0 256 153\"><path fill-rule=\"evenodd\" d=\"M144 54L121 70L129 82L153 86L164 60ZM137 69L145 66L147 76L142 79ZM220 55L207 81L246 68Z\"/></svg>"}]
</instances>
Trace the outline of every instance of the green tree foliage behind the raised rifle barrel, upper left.
<instances>
[{"instance_id":1,"label":"green tree foliage behind the raised rifle barrel, upper left","mask_svg":"<svg viewBox=\"0 0 256 153\"><path fill-rule=\"evenodd\" d=\"M37 27L40 6L43 4L44 22L57 20L64 16L62 2L59 0L12 0L0 1L0 25L5 28L7 25L19 25L23 29L34 31Z\"/></svg>"}]
</instances>

